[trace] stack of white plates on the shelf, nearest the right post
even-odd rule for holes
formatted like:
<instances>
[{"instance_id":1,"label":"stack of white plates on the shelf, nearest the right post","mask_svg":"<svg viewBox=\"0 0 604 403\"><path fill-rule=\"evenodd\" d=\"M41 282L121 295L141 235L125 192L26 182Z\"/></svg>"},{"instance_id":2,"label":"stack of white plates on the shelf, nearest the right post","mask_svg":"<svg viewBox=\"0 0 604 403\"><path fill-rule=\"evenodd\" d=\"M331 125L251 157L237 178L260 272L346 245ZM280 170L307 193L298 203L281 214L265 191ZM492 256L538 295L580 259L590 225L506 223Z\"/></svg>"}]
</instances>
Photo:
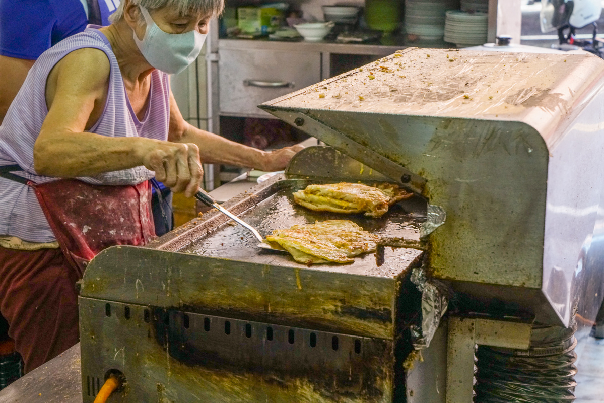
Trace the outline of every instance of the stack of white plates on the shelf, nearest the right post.
<instances>
[{"instance_id":1,"label":"stack of white plates on the shelf, nearest the right post","mask_svg":"<svg viewBox=\"0 0 604 403\"><path fill-rule=\"evenodd\" d=\"M487 41L487 27L487 13L447 11L445 42L451 42L458 48L483 45Z\"/></svg>"}]
</instances>

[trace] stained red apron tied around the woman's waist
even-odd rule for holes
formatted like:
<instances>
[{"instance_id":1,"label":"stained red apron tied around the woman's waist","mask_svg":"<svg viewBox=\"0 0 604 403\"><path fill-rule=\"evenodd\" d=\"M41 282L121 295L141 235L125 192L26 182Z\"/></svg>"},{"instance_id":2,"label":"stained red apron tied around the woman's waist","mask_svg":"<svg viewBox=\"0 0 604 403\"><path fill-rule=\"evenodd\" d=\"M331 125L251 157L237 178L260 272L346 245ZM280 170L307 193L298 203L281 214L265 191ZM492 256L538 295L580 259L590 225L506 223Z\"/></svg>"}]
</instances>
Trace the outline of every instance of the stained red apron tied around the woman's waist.
<instances>
[{"instance_id":1,"label":"stained red apron tied around the woman's waist","mask_svg":"<svg viewBox=\"0 0 604 403\"><path fill-rule=\"evenodd\" d=\"M59 179L28 185L66 259L81 272L106 248L146 245L156 237L149 181L108 186Z\"/></svg>"}]
</instances>

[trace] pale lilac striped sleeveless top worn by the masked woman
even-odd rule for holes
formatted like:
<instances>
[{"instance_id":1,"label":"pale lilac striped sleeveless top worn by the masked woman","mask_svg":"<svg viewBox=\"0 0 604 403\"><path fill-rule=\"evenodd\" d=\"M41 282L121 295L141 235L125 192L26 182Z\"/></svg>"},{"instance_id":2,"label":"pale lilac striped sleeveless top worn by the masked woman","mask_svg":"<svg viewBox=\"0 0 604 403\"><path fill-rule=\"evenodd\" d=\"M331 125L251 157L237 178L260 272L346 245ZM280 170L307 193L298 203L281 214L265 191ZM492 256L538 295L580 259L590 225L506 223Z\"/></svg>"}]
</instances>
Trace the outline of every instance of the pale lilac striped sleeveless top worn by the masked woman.
<instances>
[{"instance_id":1,"label":"pale lilac striped sleeveless top worn by the masked woman","mask_svg":"<svg viewBox=\"0 0 604 403\"><path fill-rule=\"evenodd\" d=\"M149 103L142 121L128 100L120 66L107 38L92 26L62 40L37 59L0 126L0 166L19 164L17 173L36 183L56 180L37 175L33 147L48 113L45 86L48 74L66 54L80 48L102 50L111 63L109 91L104 111L90 132L108 137L147 137L167 140L170 117L169 77L161 71L151 73ZM145 167L135 167L101 175L78 178L91 184L138 184L153 178ZM53 242L53 232L30 187L0 178L0 236L16 236L28 242Z\"/></svg>"}]
</instances>

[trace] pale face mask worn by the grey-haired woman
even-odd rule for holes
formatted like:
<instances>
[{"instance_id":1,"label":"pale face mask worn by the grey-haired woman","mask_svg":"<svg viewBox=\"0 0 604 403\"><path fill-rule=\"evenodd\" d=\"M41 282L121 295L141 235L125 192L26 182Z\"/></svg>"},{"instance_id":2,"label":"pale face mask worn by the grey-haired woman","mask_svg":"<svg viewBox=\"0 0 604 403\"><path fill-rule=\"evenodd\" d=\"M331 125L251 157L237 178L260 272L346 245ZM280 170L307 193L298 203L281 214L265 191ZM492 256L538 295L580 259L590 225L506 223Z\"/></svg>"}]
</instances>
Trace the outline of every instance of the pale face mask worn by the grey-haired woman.
<instances>
[{"instance_id":1,"label":"pale face mask worn by the grey-haired woman","mask_svg":"<svg viewBox=\"0 0 604 403\"><path fill-rule=\"evenodd\" d=\"M133 33L134 42L150 65L168 74L177 74L187 68L199 56L207 34L197 30L182 34L169 34L159 29L149 11L139 5L147 28L143 40Z\"/></svg>"}]
</instances>

